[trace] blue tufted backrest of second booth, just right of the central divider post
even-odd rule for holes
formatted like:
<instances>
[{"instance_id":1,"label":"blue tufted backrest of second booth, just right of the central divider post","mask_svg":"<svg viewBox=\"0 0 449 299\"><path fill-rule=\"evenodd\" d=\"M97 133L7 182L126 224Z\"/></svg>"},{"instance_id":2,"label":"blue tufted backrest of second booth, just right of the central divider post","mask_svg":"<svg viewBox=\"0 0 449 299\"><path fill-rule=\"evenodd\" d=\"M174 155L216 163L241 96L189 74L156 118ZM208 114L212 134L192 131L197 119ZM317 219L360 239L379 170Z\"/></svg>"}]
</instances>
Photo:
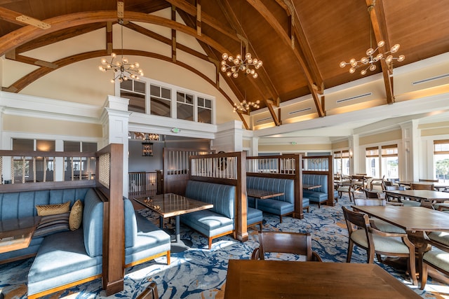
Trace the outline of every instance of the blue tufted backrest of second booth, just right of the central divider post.
<instances>
[{"instance_id":1,"label":"blue tufted backrest of second booth, just right of the central divider post","mask_svg":"<svg viewBox=\"0 0 449 299\"><path fill-rule=\"evenodd\" d=\"M272 199L290 202L290 204L295 202L295 181L292 179L246 176L246 188L283 193L283 195L273 197Z\"/></svg>"}]
</instances>

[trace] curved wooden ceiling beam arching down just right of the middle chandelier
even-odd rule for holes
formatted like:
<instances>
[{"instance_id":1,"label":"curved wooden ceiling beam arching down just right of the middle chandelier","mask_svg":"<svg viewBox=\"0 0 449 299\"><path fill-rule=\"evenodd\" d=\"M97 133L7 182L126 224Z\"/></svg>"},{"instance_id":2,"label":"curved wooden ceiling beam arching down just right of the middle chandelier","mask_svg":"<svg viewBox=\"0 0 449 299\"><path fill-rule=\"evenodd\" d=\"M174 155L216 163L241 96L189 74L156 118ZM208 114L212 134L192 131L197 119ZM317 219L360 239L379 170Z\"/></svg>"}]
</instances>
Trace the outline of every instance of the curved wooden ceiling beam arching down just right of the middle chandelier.
<instances>
[{"instance_id":1,"label":"curved wooden ceiling beam arching down just right of the middle chandelier","mask_svg":"<svg viewBox=\"0 0 449 299\"><path fill-rule=\"evenodd\" d=\"M260 0L246 0L253 8L255 8L256 11L262 15L262 17L268 22L268 24L274 29L276 34L281 38L281 41L286 43L288 48L290 48L293 53L295 54L297 61L300 63L300 67L302 68L302 71L304 72L305 77L307 78L307 86L309 87L309 91L314 98L314 103L316 106L316 110L318 111L319 117L323 117L326 115L326 113L323 111L321 107L321 101L319 98L319 94L314 88L314 79L311 76L311 73L309 71L309 68L307 67L306 62L304 62L303 58L301 57L300 53L298 53L297 50L291 47L291 39L288 37L286 32L283 30L279 22L274 18L274 15L269 11L267 6L265 6L262 1Z\"/></svg>"}]
</instances>

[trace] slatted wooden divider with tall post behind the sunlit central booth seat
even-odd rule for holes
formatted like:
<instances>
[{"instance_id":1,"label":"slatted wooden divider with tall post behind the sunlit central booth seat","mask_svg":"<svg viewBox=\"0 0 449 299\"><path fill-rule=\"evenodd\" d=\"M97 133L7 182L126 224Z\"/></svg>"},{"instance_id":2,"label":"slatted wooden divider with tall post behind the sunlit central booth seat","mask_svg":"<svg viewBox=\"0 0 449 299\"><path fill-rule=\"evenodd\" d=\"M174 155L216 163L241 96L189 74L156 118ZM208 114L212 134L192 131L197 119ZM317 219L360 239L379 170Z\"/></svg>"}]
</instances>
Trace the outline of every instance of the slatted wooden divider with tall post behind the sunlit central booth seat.
<instances>
[{"instance_id":1,"label":"slatted wooden divider with tall post behind the sunlit central booth seat","mask_svg":"<svg viewBox=\"0 0 449 299\"><path fill-rule=\"evenodd\" d=\"M192 155L189 158L189 179L236 186L234 231L235 238L241 242L248 240L245 160L245 152Z\"/></svg>"}]
</instances>

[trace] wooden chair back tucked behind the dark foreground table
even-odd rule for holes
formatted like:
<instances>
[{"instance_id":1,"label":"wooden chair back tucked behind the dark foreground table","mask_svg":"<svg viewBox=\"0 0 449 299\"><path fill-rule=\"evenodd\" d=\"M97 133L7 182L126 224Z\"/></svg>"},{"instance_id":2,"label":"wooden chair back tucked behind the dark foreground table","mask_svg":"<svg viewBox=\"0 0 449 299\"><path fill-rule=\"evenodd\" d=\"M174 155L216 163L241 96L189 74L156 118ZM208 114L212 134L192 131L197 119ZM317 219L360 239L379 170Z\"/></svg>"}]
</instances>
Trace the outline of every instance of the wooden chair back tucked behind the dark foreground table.
<instances>
[{"instance_id":1,"label":"wooden chair back tucked behind the dark foreground table","mask_svg":"<svg viewBox=\"0 0 449 299\"><path fill-rule=\"evenodd\" d=\"M305 256L306 261L322 261L319 254L311 249L309 233L260 231L258 236L259 247L254 249L252 260L264 260L265 253L275 252Z\"/></svg>"}]
</instances>

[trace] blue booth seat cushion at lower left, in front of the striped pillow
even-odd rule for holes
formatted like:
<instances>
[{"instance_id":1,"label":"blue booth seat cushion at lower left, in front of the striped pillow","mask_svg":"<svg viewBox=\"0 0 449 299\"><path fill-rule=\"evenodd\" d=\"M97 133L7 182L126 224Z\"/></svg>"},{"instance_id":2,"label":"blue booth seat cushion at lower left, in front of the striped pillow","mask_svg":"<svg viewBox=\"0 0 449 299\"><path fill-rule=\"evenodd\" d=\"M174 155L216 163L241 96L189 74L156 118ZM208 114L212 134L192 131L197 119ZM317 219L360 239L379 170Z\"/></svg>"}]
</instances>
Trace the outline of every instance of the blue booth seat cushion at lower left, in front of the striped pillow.
<instances>
[{"instance_id":1,"label":"blue booth seat cushion at lower left, in front of the striped pillow","mask_svg":"<svg viewBox=\"0 0 449 299\"><path fill-rule=\"evenodd\" d=\"M28 295L101 272L102 256L88 256L83 244L83 230L58 232L43 240L34 258L28 273Z\"/></svg>"}]
</instances>

